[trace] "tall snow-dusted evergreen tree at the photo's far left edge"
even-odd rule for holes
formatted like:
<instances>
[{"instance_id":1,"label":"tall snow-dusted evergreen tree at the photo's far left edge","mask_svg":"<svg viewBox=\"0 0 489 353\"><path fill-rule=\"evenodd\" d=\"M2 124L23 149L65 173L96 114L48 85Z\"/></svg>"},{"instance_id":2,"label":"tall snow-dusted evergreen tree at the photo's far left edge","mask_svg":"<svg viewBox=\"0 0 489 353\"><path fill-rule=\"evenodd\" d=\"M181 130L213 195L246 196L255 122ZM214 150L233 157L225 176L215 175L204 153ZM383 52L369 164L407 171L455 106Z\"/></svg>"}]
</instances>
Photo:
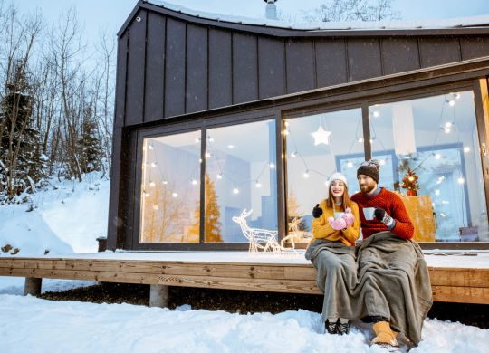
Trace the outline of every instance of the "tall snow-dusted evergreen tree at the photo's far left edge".
<instances>
[{"instance_id":1,"label":"tall snow-dusted evergreen tree at the photo's far left edge","mask_svg":"<svg viewBox=\"0 0 489 353\"><path fill-rule=\"evenodd\" d=\"M34 128L31 85L24 63L17 62L0 101L0 193L12 199L46 177L46 157Z\"/></svg>"}]
</instances>

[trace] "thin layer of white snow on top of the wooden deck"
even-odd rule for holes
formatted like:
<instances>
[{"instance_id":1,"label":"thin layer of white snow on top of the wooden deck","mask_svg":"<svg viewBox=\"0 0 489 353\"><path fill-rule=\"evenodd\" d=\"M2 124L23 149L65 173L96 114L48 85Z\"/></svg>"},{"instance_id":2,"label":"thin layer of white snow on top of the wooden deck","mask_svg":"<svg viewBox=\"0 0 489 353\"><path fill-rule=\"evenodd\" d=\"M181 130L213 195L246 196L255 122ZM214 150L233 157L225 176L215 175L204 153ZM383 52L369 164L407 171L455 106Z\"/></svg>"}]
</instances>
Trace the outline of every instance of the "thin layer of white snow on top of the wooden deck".
<instances>
[{"instance_id":1,"label":"thin layer of white snow on top of the wooden deck","mask_svg":"<svg viewBox=\"0 0 489 353\"><path fill-rule=\"evenodd\" d=\"M430 267L489 269L489 250L425 250L425 260ZM2 256L6 258L7 256ZM12 256L18 257L18 256ZM28 259L29 257L24 257ZM39 258L39 257L36 257ZM249 254L213 252L134 252L106 251L103 253L72 253L66 255L43 256L45 259L91 259L128 261L169 261L169 262L221 262L221 263L266 263L266 264L308 264L304 251L298 253Z\"/></svg>"}]
</instances>

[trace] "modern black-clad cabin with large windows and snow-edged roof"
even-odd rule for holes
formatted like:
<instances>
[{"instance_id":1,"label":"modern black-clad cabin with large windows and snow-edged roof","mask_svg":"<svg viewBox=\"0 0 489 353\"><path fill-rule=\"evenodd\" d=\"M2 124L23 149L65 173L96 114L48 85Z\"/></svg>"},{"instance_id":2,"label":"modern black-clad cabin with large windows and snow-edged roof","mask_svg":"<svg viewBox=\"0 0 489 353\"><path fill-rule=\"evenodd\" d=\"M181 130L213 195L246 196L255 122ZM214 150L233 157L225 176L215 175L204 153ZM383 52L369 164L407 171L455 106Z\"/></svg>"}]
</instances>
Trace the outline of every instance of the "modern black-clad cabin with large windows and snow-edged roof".
<instances>
[{"instance_id":1,"label":"modern black-clad cabin with large windows and snow-edged roof","mask_svg":"<svg viewBox=\"0 0 489 353\"><path fill-rule=\"evenodd\" d=\"M376 25L140 1L118 33L109 249L246 250L237 219L305 244L328 176L352 195L371 157L424 248L487 249L489 17Z\"/></svg>"}]
</instances>

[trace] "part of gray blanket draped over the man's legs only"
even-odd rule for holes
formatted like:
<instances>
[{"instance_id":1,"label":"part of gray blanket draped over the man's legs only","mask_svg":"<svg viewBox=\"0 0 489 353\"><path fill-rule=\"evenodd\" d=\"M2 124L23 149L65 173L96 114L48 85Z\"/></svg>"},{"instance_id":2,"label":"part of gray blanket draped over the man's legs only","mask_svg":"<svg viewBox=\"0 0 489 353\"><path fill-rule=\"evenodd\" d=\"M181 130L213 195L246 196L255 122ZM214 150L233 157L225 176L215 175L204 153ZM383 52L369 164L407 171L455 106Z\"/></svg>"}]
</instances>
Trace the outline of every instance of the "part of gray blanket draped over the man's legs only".
<instances>
[{"instance_id":1,"label":"part of gray blanket draped over the man's legs only","mask_svg":"<svg viewBox=\"0 0 489 353\"><path fill-rule=\"evenodd\" d=\"M390 232L369 236L357 251L360 318L383 316L415 345L433 304L427 263L417 243Z\"/></svg>"}]
</instances>

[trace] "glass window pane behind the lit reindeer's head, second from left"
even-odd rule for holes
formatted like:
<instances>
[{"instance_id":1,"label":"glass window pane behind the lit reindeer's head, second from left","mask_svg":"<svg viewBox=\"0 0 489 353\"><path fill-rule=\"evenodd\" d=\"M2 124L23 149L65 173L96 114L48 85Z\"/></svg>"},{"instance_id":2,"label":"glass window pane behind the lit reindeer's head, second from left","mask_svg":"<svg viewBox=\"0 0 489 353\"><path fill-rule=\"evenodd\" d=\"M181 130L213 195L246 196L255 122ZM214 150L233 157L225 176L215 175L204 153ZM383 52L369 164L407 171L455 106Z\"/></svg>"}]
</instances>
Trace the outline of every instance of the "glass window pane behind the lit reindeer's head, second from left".
<instances>
[{"instance_id":1,"label":"glass window pane behind the lit reindeer's head, second from left","mask_svg":"<svg viewBox=\"0 0 489 353\"><path fill-rule=\"evenodd\" d=\"M206 130L206 243L246 243L240 215L245 226L277 230L275 156L272 119Z\"/></svg>"}]
</instances>

